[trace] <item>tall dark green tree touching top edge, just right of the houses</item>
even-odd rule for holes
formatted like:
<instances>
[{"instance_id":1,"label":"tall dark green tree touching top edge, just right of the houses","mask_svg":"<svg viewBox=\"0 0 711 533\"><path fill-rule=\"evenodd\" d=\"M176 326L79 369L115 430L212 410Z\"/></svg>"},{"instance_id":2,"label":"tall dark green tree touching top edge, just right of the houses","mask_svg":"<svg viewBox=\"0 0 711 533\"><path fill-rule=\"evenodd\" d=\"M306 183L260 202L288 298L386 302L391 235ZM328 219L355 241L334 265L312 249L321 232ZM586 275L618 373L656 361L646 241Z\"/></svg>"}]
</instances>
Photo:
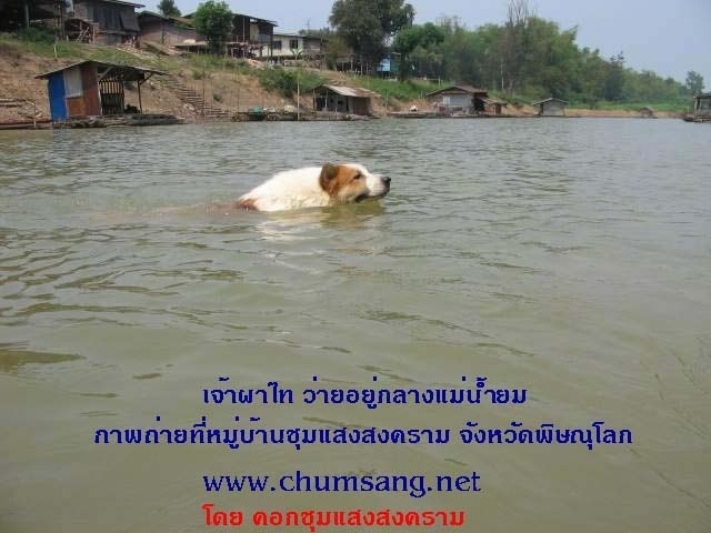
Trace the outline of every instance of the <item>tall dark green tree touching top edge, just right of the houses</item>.
<instances>
[{"instance_id":1,"label":"tall dark green tree touching top edge, just right of the houses","mask_svg":"<svg viewBox=\"0 0 711 533\"><path fill-rule=\"evenodd\" d=\"M414 8L403 0L336 0L330 22L370 71L385 54L385 40L412 26Z\"/></svg>"}]
</instances>

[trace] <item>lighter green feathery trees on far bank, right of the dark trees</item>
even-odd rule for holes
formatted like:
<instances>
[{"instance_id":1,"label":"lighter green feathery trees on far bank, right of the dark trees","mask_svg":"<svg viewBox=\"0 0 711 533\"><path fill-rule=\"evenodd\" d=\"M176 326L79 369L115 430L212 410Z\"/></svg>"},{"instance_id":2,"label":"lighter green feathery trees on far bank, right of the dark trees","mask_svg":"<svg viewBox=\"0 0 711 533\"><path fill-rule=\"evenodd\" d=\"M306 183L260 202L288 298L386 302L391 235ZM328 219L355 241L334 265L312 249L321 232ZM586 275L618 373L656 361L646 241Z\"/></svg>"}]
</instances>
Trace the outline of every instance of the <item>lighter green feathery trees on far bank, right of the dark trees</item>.
<instances>
[{"instance_id":1,"label":"lighter green feathery trees on far bank, right of the dark trees","mask_svg":"<svg viewBox=\"0 0 711 533\"><path fill-rule=\"evenodd\" d=\"M455 19L441 22L441 43L410 56L417 76L462 80L510 95L558 97L594 105L613 102L677 102L702 87L625 67L623 53L605 59L575 43L577 28L529 17L524 24L485 24L467 30ZM693 74L693 73L691 73ZM693 78L693 76L692 76Z\"/></svg>"}]
</instances>

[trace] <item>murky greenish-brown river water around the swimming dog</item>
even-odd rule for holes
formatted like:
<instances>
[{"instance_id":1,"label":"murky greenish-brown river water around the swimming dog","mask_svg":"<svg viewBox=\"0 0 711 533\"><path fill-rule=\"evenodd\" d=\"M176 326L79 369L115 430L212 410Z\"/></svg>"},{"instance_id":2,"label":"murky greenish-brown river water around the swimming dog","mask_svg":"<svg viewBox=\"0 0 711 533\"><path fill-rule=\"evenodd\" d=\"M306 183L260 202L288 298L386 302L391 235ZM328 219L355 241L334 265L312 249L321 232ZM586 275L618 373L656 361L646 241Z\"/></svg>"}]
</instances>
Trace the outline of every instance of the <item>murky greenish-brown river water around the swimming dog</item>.
<instances>
[{"instance_id":1,"label":"murky greenish-brown river water around the swimming dog","mask_svg":"<svg viewBox=\"0 0 711 533\"><path fill-rule=\"evenodd\" d=\"M243 511L244 531L309 531L254 527L259 510L353 509L463 510L463 531L482 533L711 531L710 148L711 128L663 119L0 132L0 531L197 532L206 502ZM390 195L206 208L326 161L391 177ZM475 389L478 376L527 389L525 403L368 409L300 394ZM203 401L203 389L272 381L293 404ZM451 436L94 443L98 429L190 429L202 415ZM632 443L459 433L594 421ZM422 475L434 490L208 493L203 481L297 471ZM474 473L461 491L433 483Z\"/></svg>"}]
</instances>

